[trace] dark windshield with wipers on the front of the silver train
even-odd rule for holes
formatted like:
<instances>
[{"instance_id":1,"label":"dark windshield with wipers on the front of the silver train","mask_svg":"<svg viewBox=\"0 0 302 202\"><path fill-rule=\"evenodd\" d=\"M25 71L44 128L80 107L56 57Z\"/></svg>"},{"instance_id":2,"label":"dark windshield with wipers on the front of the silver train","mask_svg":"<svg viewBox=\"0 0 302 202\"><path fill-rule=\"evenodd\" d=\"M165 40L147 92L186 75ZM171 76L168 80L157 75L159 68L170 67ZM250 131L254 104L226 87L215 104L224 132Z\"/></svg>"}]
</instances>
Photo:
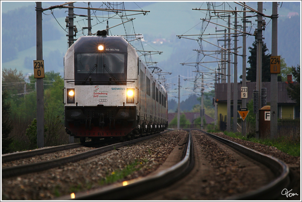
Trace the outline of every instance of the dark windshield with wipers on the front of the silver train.
<instances>
[{"instance_id":1,"label":"dark windshield with wipers on the front of the silver train","mask_svg":"<svg viewBox=\"0 0 302 202\"><path fill-rule=\"evenodd\" d=\"M126 80L126 53L75 53L76 85L125 85Z\"/></svg>"}]
</instances>

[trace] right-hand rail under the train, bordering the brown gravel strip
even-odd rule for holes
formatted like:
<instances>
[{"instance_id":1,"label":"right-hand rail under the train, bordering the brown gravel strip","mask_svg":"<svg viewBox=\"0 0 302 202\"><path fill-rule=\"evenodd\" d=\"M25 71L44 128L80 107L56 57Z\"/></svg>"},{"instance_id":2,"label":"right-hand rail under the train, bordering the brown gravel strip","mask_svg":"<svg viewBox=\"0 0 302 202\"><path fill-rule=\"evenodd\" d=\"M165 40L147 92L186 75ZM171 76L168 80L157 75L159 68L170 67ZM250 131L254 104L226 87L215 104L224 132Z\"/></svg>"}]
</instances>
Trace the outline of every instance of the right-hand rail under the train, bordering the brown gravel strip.
<instances>
[{"instance_id":1,"label":"right-hand rail under the train, bordering the brown gravel strip","mask_svg":"<svg viewBox=\"0 0 302 202\"><path fill-rule=\"evenodd\" d=\"M2 179L8 178L11 176L22 175L22 174L30 173L30 172L38 172L38 171L58 167L58 166L64 165L69 162L76 162L76 161L79 161L79 160L82 160L82 159L85 159L85 158L88 158L91 156L95 156L95 155L98 155L101 153L105 153L105 152L108 152L108 151L111 151L111 150L114 150L114 149L117 149L120 147L136 144L143 140L147 140L147 139L156 137L159 134L163 134L165 132L166 131L157 133L154 135L146 136L146 137L141 137L141 138L135 139L135 140L130 140L127 142L112 144L112 145L108 145L106 147L100 147L97 149L77 153L74 155L61 157L58 159L53 159L53 160L48 160L48 161L43 161L43 162L38 162L38 163L31 163L31 164L21 165L21 166L4 167L4 168L2 167Z\"/></svg>"}]
</instances>

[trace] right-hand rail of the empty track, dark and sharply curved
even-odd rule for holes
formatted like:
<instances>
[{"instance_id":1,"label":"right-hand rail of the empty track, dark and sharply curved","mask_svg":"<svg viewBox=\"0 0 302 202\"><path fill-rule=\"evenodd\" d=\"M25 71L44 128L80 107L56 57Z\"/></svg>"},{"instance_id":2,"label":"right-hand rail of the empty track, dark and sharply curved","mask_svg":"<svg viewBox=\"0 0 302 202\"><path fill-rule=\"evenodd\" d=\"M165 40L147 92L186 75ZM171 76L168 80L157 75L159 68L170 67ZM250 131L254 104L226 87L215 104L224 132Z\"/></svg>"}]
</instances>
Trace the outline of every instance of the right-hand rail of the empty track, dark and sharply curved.
<instances>
[{"instance_id":1,"label":"right-hand rail of the empty track, dark and sharply curved","mask_svg":"<svg viewBox=\"0 0 302 202\"><path fill-rule=\"evenodd\" d=\"M201 131L201 130L199 130ZM202 131L208 136L226 144L240 153L243 153L246 156L249 156L252 159L264 164L275 174L276 178L272 180L269 184L260 187L257 190L249 191L245 194L239 194L234 197L228 197L226 200L271 200L277 198L281 195L281 192L284 188L289 187L290 185L290 173L289 167L283 161L269 156L258 151L252 150L250 148L244 147L240 144L232 142L230 140L223 139L214 134L207 133Z\"/></svg>"}]
</instances>

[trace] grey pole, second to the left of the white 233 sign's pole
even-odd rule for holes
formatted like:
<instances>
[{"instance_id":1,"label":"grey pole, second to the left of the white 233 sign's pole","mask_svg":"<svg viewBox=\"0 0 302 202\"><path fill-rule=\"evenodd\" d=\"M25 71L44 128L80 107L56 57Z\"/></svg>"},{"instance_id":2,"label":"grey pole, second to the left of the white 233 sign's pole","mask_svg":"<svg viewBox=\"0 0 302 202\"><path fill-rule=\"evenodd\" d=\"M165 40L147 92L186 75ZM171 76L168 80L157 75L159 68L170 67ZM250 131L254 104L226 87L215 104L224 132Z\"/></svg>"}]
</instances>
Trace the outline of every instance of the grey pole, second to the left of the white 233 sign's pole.
<instances>
[{"instance_id":1,"label":"grey pole, second to the left of the white 233 sign's pole","mask_svg":"<svg viewBox=\"0 0 302 202\"><path fill-rule=\"evenodd\" d=\"M230 41L230 37L231 37L231 30L230 30L230 23L231 20L231 16L229 15L229 21L228 21L228 56L227 56L227 113L226 113L226 131L230 132L231 131L231 63L230 63L230 59L231 59L231 54L230 54L230 49L231 49L231 41Z\"/></svg>"}]
</instances>

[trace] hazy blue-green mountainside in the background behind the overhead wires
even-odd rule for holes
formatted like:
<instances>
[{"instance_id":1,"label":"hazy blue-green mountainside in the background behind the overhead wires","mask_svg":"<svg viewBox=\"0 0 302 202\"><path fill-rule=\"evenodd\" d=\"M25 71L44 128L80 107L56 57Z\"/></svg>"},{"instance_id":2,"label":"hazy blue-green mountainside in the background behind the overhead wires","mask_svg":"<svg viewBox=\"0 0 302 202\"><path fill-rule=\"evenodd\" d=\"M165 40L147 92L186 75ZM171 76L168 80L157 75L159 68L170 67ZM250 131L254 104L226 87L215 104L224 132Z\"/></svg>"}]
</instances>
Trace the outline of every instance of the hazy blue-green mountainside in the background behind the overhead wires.
<instances>
[{"instance_id":1,"label":"hazy blue-green mountainside in the background behind the overhead wires","mask_svg":"<svg viewBox=\"0 0 302 202\"><path fill-rule=\"evenodd\" d=\"M33 2L31 2L32 4ZM63 2L42 2L42 7L48 8L50 5L59 5ZM85 2L77 2L84 4ZM101 2L91 2L93 7L99 7ZM35 3L31 6L22 6L17 9L12 5L19 5L17 2L2 2L2 68L17 68L24 74L33 72L33 60L36 58L36 12ZM266 15L271 15L271 2L263 2ZM9 8L9 11L5 10ZM9 6L7 6L9 5ZM26 5L26 4L25 4ZM205 12L193 11L192 8L206 7L206 2L125 2L125 8L128 10L150 11L146 16L134 15L133 26L136 33L143 35L143 46L145 50L163 52L161 55L152 55L153 61L158 62L157 66L164 72L171 72L171 75L165 75L168 79L166 83L177 84L178 75L184 77L193 77L196 73L194 64L181 65L180 63L196 62L197 52L193 49L199 49L195 39L198 36L191 36L194 40L181 38L177 35L199 34L201 27L205 26L201 18L205 17ZM278 8L278 55L285 59L290 67L300 64L300 28L301 14L300 2L281 2ZM87 5L86 5L87 6ZM239 6L239 5L238 5ZM257 9L257 2L249 2L249 6ZM65 10L66 11L66 10ZM43 59L46 71L63 71L63 57L67 51L67 36L65 18L67 13L63 9L54 9L53 15L50 11L43 12ZM87 12L87 11L85 11ZM84 11L77 11L77 14L85 14ZM133 13L131 13L133 14ZM251 18L252 24L255 24L255 17ZM263 37L269 53L271 52L271 19L264 18L266 27ZM76 16L80 22L81 18ZM58 21L58 22L57 22ZM83 20L87 23L86 20ZM241 24L241 19L239 19ZM96 20L93 20L94 24ZM214 20L213 20L214 22ZM216 20L215 20L216 22ZM113 26L113 22L111 26ZM222 22L220 22L222 23ZM224 24L226 26L226 23ZM254 32L255 25L248 24L249 31ZM80 27L78 25L78 27ZM93 29L101 30L105 27L104 23L97 24ZM124 27L120 26L121 30ZM205 33L215 33L216 25L207 25ZM218 27L219 28L219 27ZM80 28L79 28L80 29ZM111 30L113 34L120 34L118 30ZM77 34L79 37L81 33ZM217 39L207 39L217 44ZM247 47L252 46L255 37L247 37ZM232 42L233 43L233 42ZM239 37L238 46L242 46L242 37ZM217 47L209 43L202 43L204 50L214 50ZM241 52L242 50L239 49ZM249 52L247 50L247 57ZM204 61L215 61L214 58L205 57ZM238 58L238 77L242 74L242 59ZM248 66L249 64L247 64ZM207 68L215 69L217 63L208 63ZM199 69L205 69L199 66ZM239 81L239 79L238 79ZM214 81L211 81L214 83ZM190 86L190 82L182 85L182 88ZM167 89L170 90L170 89ZM186 94L186 93L182 93ZM182 100L188 96L182 96Z\"/></svg>"}]
</instances>

